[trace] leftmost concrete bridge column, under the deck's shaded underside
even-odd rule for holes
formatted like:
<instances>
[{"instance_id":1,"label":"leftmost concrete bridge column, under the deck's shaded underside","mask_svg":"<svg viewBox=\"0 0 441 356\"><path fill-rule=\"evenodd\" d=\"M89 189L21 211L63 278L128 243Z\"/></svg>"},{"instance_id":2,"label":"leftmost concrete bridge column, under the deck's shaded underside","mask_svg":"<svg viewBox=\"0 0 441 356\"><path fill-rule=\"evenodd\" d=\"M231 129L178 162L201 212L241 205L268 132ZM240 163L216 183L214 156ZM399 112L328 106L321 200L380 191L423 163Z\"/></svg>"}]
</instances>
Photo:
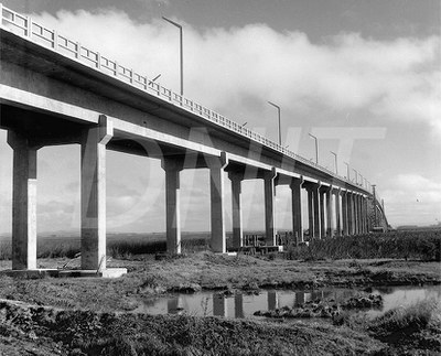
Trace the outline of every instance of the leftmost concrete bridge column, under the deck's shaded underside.
<instances>
[{"instance_id":1,"label":"leftmost concrete bridge column, under the deck's shaded underside","mask_svg":"<svg viewBox=\"0 0 441 356\"><path fill-rule=\"evenodd\" d=\"M12 270L36 269L36 148L8 131L13 149Z\"/></svg>"}]
</instances>

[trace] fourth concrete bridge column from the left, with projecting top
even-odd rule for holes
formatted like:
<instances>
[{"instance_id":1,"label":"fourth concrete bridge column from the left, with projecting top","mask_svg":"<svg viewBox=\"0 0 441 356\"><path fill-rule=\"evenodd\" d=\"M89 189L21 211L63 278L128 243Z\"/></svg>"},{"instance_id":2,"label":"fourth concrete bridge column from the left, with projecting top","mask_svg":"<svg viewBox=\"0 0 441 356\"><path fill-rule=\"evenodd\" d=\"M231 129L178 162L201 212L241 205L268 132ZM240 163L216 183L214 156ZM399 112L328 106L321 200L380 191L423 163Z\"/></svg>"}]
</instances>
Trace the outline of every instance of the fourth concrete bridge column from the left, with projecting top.
<instances>
[{"instance_id":1,"label":"fourth concrete bridge column from the left, with projecting top","mask_svg":"<svg viewBox=\"0 0 441 356\"><path fill-rule=\"evenodd\" d=\"M224 212L224 168L227 165L227 160L223 154L220 158L209 158L207 163L209 168L209 192L212 204L211 246L214 252L225 253L227 246Z\"/></svg>"}]
</instances>

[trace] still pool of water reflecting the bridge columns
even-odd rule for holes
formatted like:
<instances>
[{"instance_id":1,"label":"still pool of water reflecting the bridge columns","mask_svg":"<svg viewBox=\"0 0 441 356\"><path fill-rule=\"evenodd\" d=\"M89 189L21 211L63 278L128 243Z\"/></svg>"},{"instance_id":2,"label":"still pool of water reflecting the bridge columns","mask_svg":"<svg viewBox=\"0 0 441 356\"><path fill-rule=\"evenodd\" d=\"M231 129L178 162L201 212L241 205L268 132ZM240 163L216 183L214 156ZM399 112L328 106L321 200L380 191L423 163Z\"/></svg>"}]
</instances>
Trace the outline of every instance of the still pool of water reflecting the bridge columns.
<instances>
[{"instance_id":1,"label":"still pool of water reflecting the bridge columns","mask_svg":"<svg viewBox=\"0 0 441 356\"><path fill-rule=\"evenodd\" d=\"M384 300L381 309L368 312L372 316L399 305L407 306L426 299L441 301L441 285L384 287L374 288L372 293L380 294ZM201 292L149 300L133 312L148 314L178 314L185 312L185 314L198 316L256 317L252 314L258 310L270 311L284 305L292 308L316 299L344 301L357 294L359 294L357 290L335 288L315 291L261 290L258 295L245 293L224 295L216 292Z\"/></svg>"}]
</instances>

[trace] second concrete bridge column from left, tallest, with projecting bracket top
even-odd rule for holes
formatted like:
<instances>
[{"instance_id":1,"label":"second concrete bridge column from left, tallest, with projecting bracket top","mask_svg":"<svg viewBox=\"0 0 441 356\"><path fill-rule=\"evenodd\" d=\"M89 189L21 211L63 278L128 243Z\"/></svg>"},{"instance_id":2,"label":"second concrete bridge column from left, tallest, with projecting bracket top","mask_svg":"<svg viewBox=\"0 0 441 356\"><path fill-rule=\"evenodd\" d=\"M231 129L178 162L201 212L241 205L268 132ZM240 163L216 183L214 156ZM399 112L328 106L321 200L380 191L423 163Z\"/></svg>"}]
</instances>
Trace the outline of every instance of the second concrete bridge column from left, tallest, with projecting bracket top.
<instances>
[{"instance_id":1,"label":"second concrete bridge column from left, tallest, with projecting bracket top","mask_svg":"<svg viewBox=\"0 0 441 356\"><path fill-rule=\"evenodd\" d=\"M106 144L112 123L101 116L84 130L82 141L82 269L106 269Z\"/></svg>"}]
</instances>

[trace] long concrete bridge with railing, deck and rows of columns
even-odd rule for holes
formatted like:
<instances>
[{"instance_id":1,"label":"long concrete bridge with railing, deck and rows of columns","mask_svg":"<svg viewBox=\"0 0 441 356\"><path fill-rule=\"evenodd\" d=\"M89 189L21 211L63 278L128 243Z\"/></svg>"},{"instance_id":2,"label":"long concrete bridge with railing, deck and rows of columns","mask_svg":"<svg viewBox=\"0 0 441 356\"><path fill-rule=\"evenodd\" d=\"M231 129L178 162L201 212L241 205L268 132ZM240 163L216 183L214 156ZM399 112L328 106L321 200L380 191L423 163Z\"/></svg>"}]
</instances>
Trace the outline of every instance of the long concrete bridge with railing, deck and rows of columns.
<instances>
[{"instance_id":1,"label":"long concrete bridge with railing, deck and rows of columns","mask_svg":"<svg viewBox=\"0 0 441 356\"><path fill-rule=\"evenodd\" d=\"M303 241L301 190L312 238L356 235L384 216L369 184L346 180L0 4L0 128L13 149L12 269L36 270L36 155L80 144L82 268L106 271L106 151L162 161L168 250L181 252L180 173L208 169L211 248L226 252L225 172L233 246L243 246L241 184L263 181L266 244L276 245L275 193L292 193L294 244ZM375 202L374 202L375 201ZM374 202L374 203L373 203ZM375 206L375 208L374 208ZM332 218L335 216L335 219Z\"/></svg>"}]
</instances>

